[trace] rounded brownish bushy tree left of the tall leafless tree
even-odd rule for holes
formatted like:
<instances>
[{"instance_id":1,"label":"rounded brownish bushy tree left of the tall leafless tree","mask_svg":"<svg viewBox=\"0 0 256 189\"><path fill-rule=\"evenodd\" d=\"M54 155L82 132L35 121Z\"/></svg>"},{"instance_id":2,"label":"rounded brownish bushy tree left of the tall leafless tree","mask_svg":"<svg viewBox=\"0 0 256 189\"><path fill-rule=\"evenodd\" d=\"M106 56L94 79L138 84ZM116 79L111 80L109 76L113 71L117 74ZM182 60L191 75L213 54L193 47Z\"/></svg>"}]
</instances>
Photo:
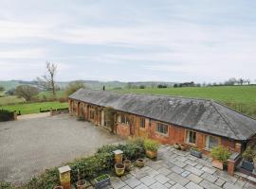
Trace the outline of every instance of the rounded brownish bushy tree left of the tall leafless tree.
<instances>
[{"instance_id":1,"label":"rounded brownish bushy tree left of the tall leafless tree","mask_svg":"<svg viewBox=\"0 0 256 189\"><path fill-rule=\"evenodd\" d=\"M32 96L39 94L39 90L30 85L20 85L16 88L15 94L18 97L24 97L27 101L30 101Z\"/></svg>"}]
</instances>

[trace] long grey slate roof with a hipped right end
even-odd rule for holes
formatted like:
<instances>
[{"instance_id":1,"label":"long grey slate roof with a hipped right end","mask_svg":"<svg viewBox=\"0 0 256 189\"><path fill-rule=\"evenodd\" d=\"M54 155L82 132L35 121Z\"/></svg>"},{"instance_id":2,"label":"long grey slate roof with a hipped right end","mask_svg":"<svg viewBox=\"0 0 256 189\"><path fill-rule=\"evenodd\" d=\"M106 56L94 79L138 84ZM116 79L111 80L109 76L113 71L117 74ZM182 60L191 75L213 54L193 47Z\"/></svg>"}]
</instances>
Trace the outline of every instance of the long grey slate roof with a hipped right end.
<instances>
[{"instance_id":1,"label":"long grey slate roof with a hipped right end","mask_svg":"<svg viewBox=\"0 0 256 189\"><path fill-rule=\"evenodd\" d=\"M234 140L247 140L256 133L255 119L207 99L89 89L80 89L69 98Z\"/></svg>"}]
</instances>

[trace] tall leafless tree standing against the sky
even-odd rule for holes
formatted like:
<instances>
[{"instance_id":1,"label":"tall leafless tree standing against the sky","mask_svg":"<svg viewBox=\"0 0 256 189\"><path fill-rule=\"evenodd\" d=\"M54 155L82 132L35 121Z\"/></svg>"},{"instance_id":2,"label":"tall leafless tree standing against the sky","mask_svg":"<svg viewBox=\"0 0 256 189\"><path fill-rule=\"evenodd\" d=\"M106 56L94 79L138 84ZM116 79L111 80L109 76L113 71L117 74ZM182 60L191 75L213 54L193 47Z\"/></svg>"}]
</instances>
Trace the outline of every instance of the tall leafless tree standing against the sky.
<instances>
[{"instance_id":1,"label":"tall leafless tree standing against the sky","mask_svg":"<svg viewBox=\"0 0 256 189\"><path fill-rule=\"evenodd\" d=\"M43 77L37 77L38 84L48 91L52 91L52 94L56 94L56 81L55 76L57 73L57 65L49 61L46 62L46 75Z\"/></svg>"}]
</instances>

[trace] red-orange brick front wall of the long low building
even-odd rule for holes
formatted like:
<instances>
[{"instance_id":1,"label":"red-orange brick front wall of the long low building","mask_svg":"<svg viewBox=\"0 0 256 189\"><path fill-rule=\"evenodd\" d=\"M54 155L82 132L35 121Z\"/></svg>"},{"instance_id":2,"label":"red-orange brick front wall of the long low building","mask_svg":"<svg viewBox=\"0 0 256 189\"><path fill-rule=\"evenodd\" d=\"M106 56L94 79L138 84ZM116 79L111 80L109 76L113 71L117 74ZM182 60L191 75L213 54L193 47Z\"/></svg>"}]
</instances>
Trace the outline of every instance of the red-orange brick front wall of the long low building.
<instances>
[{"instance_id":1,"label":"red-orange brick front wall of the long low building","mask_svg":"<svg viewBox=\"0 0 256 189\"><path fill-rule=\"evenodd\" d=\"M76 114L78 115L78 111L82 111L85 120L91 121L95 125L100 125L101 124L101 110L102 108L99 106L94 106L94 105L88 105L86 103L76 103L73 100L69 101L69 111L72 112L74 110L74 106L76 106ZM82 106L82 108L81 108ZM95 116L94 119L89 118L89 108L88 106L91 107L91 109L95 110ZM118 112L118 113L124 113L127 117L129 117L130 124L121 124L117 122L116 129L117 129L117 134L120 136L130 136L130 135L135 135L135 136L141 136L141 137L149 137L152 139L155 139L159 141L162 144L182 144L186 146L190 146L185 143L186 140L186 129L178 127L178 126L173 126L173 125L168 125L168 133L167 134L161 134L156 131L156 124L157 121L145 118L145 128L140 127L140 116L134 115L131 113L126 113L126 112ZM203 150L205 153L209 153L208 150L205 149L206 147L206 135L205 133L201 132L196 132L196 142L195 146ZM237 142L233 140L229 140L227 138L222 138L219 137L220 145L228 147L232 151L237 151L241 152L241 147L239 148L239 145L236 145Z\"/></svg>"}]
</instances>

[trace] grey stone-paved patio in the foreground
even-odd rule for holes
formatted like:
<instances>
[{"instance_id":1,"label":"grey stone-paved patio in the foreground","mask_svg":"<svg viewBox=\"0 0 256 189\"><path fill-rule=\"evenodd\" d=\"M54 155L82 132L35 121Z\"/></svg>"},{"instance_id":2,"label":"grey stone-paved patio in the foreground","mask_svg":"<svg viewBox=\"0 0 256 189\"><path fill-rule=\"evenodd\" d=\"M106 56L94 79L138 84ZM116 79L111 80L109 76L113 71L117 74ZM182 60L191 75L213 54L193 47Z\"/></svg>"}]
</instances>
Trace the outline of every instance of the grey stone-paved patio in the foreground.
<instances>
[{"instance_id":1,"label":"grey stone-paved patio in the foreground","mask_svg":"<svg viewBox=\"0 0 256 189\"><path fill-rule=\"evenodd\" d=\"M143 168L135 167L122 178L111 179L115 189L252 189L255 185L211 166L207 158L197 159L189 152L161 146L158 160L146 160Z\"/></svg>"}]
</instances>

